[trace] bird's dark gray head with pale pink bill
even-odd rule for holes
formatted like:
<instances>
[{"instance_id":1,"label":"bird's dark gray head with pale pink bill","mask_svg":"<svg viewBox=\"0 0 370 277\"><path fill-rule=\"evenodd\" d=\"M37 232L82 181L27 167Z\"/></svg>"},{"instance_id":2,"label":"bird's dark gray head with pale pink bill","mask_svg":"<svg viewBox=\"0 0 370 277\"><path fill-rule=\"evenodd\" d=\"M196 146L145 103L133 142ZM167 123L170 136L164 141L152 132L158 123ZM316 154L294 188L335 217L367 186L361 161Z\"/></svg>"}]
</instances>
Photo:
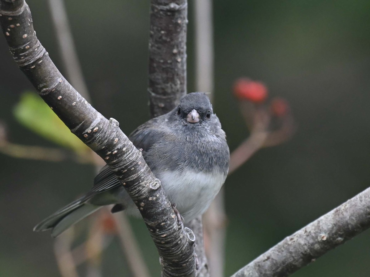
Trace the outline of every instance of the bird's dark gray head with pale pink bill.
<instances>
[{"instance_id":1,"label":"bird's dark gray head with pale pink bill","mask_svg":"<svg viewBox=\"0 0 370 277\"><path fill-rule=\"evenodd\" d=\"M203 92L186 94L180 99L176 108L176 115L186 123L200 124L211 119L213 115L212 104Z\"/></svg>"}]
</instances>

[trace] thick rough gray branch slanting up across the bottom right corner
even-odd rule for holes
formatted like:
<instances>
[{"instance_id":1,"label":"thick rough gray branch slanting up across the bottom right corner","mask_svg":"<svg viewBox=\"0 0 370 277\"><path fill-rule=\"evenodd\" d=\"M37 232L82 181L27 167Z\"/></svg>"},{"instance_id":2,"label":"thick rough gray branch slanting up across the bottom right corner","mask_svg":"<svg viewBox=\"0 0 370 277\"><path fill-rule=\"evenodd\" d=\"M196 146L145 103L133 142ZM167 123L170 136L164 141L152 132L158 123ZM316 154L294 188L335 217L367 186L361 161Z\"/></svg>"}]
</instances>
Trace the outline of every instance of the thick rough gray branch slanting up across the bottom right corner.
<instances>
[{"instance_id":1,"label":"thick rough gray branch slanting up across the bottom right corner","mask_svg":"<svg viewBox=\"0 0 370 277\"><path fill-rule=\"evenodd\" d=\"M284 277L370 227L370 188L324 214L232 277Z\"/></svg>"}]
</instances>

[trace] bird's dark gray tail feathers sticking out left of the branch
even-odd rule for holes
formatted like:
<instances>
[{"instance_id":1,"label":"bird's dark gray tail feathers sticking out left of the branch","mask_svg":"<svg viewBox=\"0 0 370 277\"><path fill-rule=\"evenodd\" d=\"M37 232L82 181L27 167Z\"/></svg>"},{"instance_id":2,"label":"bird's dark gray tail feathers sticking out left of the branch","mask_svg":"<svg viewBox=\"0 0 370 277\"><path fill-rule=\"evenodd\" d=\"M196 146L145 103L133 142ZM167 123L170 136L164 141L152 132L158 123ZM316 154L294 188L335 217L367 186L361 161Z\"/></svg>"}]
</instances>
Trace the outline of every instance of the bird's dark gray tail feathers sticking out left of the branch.
<instances>
[{"instance_id":1,"label":"bird's dark gray tail feathers sticking out left of the branch","mask_svg":"<svg viewBox=\"0 0 370 277\"><path fill-rule=\"evenodd\" d=\"M73 224L87 217L89 214L94 213L94 211L101 207L102 206L84 203L81 199L78 199L45 218L38 223L33 230L38 232L53 229L51 231L51 236L57 237Z\"/></svg>"}]
</instances>

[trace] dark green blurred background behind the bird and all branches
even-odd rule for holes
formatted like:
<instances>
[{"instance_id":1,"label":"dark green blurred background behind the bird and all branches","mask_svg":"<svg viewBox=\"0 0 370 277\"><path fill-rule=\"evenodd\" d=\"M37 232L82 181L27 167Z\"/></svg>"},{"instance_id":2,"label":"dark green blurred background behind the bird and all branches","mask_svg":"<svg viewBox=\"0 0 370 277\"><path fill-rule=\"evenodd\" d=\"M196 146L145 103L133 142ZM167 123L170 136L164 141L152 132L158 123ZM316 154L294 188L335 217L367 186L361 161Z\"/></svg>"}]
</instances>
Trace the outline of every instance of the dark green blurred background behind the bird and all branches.
<instances>
[{"instance_id":1,"label":"dark green blurred background behind the bird and all branches","mask_svg":"<svg viewBox=\"0 0 370 277\"><path fill-rule=\"evenodd\" d=\"M61 68L44 0L28 0L38 38ZM289 142L255 154L225 183L228 276L370 184L370 1L214 1L214 110L233 150L248 136L231 94L240 76L263 81L290 103L299 124ZM93 106L130 133L149 119L149 1L66 1ZM194 90L193 4L189 2L188 91ZM54 146L18 123L13 108L30 83L0 39L0 119L13 143ZM46 123L47 124L47 123ZM48 233L33 226L92 185L94 168L0 154L0 276L59 276ZM78 224L77 231L88 220ZM131 220L152 276L155 247ZM369 276L370 233L293 274ZM129 276L118 242L103 276ZM84 266L80 267L83 271Z\"/></svg>"}]
</instances>

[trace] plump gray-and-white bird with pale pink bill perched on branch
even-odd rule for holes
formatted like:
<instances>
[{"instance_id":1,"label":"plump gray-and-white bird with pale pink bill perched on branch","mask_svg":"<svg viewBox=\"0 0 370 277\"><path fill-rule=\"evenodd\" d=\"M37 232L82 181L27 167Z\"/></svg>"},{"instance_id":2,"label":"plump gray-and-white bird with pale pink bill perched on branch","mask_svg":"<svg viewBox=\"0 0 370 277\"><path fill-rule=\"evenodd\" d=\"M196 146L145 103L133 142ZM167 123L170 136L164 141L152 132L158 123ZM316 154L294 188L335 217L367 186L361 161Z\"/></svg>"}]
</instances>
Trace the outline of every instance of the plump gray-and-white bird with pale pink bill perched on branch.
<instances>
[{"instance_id":1,"label":"plump gray-and-white bird with pale pink bill perched on branch","mask_svg":"<svg viewBox=\"0 0 370 277\"><path fill-rule=\"evenodd\" d=\"M148 120L129 139L142 149L145 162L184 223L206 211L225 182L230 152L226 134L205 93L185 94L175 109ZM52 229L51 236L57 237L102 206L112 204L112 213L125 210L129 215L140 215L106 165L85 196L45 218L34 231Z\"/></svg>"}]
</instances>

